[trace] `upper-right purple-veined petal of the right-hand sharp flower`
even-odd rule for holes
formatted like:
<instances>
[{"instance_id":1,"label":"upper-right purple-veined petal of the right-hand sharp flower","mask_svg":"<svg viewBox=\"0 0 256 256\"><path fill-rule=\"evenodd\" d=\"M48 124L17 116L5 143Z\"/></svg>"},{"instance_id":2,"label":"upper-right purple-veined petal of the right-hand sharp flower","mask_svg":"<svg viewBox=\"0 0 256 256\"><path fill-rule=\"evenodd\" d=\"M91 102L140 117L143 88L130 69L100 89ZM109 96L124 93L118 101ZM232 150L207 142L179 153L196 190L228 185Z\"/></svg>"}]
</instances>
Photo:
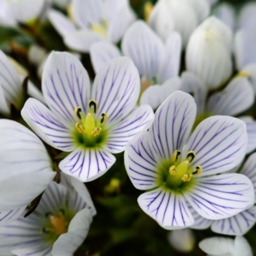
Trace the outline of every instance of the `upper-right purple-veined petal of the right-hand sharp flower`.
<instances>
[{"instance_id":1,"label":"upper-right purple-veined petal of the right-hand sharp flower","mask_svg":"<svg viewBox=\"0 0 256 256\"><path fill-rule=\"evenodd\" d=\"M182 157L186 152L195 152L191 166L202 166L200 177L225 172L242 161L247 140L243 121L231 116L211 116L196 127Z\"/></svg>"}]
</instances>

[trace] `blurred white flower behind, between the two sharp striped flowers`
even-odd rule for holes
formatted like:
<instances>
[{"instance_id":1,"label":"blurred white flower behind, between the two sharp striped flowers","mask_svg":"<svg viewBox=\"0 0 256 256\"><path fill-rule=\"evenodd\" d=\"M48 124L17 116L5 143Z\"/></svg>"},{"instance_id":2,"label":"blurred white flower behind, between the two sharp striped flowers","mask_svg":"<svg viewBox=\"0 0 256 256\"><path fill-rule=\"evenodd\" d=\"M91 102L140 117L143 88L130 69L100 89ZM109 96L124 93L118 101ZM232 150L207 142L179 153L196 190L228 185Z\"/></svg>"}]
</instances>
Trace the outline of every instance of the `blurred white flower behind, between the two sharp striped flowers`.
<instances>
[{"instance_id":1,"label":"blurred white flower behind, between the two sharp striped flowers","mask_svg":"<svg viewBox=\"0 0 256 256\"><path fill-rule=\"evenodd\" d=\"M108 60L121 54L129 56L141 77L140 104L149 104L153 109L156 109L168 95L179 90L179 33L172 32L164 43L145 22L136 21L125 32L121 49L122 53L109 42L93 44L90 56L95 72L98 72Z\"/></svg>"}]
</instances>

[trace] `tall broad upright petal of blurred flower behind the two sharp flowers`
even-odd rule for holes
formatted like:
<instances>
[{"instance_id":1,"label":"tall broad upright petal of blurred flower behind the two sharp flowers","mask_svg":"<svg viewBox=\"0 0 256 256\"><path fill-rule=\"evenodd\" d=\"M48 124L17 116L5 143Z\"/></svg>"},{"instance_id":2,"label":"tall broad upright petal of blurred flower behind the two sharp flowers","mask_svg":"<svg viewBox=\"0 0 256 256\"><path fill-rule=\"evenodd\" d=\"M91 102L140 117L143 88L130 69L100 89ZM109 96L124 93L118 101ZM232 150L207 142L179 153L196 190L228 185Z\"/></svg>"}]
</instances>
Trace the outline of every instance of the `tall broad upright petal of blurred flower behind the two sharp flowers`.
<instances>
[{"instance_id":1,"label":"tall broad upright petal of blurred flower behind the two sharp flowers","mask_svg":"<svg viewBox=\"0 0 256 256\"><path fill-rule=\"evenodd\" d=\"M122 40L122 51L131 57L140 76L149 81L157 79L164 62L164 44L143 21L134 22Z\"/></svg>"}]
</instances>

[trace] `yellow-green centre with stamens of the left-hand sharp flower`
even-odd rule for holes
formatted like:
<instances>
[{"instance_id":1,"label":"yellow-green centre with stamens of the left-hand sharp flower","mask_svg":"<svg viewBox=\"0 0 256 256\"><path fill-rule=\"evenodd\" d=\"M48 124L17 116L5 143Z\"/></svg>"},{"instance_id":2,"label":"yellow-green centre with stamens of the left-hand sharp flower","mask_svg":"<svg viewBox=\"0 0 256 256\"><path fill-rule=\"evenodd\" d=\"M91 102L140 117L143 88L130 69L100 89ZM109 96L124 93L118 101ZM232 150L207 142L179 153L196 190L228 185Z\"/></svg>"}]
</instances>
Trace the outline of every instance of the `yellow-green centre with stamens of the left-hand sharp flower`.
<instances>
[{"instance_id":1,"label":"yellow-green centre with stamens of the left-hand sharp flower","mask_svg":"<svg viewBox=\"0 0 256 256\"><path fill-rule=\"evenodd\" d=\"M79 122L76 123L72 132L75 143L78 147L100 148L108 140L108 129L105 122L108 119L107 113L102 113L100 118L95 118L97 113L97 102L89 101L90 112L87 115L82 113L81 107L74 109Z\"/></svg>"}]
</instances>

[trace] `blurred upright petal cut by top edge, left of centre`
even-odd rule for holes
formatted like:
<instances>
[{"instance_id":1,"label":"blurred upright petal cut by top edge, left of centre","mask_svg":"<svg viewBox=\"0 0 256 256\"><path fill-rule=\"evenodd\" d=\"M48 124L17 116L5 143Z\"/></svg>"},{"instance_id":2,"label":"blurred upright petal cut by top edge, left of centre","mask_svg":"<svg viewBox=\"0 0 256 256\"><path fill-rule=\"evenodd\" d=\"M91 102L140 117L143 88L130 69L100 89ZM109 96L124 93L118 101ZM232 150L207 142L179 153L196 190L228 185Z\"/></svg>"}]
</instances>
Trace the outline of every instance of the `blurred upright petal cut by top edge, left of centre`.
<instances>
[{"instance_id":1,"label":"blurred upright petal cut by top edge, left of centre","mask_svg":"<svg viewBox=\"0 0 256 256\"><path fill-rule=\"evenodd\" d=\"M103 17L102 0L73 0L72 12L74 20L81 28L99 24Z\"/></svg>"}]
</instances>

